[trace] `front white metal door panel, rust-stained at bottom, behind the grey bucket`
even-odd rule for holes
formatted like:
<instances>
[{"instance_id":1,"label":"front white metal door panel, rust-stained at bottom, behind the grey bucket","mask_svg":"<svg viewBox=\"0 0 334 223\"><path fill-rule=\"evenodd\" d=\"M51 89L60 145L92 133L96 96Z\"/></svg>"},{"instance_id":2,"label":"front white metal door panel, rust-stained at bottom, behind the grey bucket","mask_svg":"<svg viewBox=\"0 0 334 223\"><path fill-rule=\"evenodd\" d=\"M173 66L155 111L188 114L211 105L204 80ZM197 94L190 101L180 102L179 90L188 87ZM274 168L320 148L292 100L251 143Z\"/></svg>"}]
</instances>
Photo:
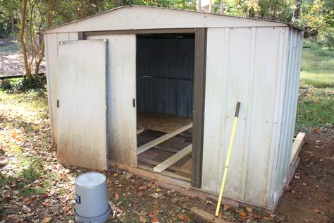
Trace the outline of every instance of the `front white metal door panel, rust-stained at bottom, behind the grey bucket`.
<instances>
[{"instance_id":1,"label":"front white metal door panel, rust-stained at bottom, behind the grey bucket","mask_svg":"<svg viewBox=\"0 0 334 223\"><path fill-rule=\"evenodd\" d=\"M107 40L60 42L58 47L58 160L107 169Z\"/></svg>"}]
</instances>

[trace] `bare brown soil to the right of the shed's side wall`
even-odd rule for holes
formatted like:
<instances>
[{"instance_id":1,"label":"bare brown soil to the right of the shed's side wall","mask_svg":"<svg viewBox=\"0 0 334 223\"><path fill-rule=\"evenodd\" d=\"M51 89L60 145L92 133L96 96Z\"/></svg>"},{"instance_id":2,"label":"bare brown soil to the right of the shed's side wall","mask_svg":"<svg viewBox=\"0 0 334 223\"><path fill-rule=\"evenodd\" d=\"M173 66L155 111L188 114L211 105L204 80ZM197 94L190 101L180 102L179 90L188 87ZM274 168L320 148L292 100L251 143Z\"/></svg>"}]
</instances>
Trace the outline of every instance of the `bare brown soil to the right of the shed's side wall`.
<instances>
[{"instance_id":1,"label":"bare brown soil to the right of the shed's side wall","mask_svg":"<svg viewBox=\"0 0 334 223\"><path fill-rule=\"evenodd\" d=\"M334 140L307 135L300 162L276 215L286 222L334 222Z\"/></svg>"}]
</instances>

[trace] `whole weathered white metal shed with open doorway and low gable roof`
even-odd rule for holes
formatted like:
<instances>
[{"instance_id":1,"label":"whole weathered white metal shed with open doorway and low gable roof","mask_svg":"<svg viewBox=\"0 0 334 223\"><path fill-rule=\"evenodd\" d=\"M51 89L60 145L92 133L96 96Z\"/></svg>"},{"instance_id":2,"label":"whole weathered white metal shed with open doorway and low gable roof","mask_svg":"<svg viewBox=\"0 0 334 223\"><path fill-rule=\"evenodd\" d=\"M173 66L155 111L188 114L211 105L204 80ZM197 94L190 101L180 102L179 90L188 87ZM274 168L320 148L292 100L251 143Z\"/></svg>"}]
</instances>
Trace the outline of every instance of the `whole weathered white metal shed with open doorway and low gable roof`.
<instances>
[{"instance_id":1,"label":"whole weathered white metal shed with open doorway and low gable roof","mask_svg":"<svg viewBox=\"0 0 334 223\"><path fill-rule=\"evenodd\" d=\"M302 30L125 6L43 33L59 162L215 196L241 102L225 198L274 209L297 162Z\"/></svg>"}]
</instances>

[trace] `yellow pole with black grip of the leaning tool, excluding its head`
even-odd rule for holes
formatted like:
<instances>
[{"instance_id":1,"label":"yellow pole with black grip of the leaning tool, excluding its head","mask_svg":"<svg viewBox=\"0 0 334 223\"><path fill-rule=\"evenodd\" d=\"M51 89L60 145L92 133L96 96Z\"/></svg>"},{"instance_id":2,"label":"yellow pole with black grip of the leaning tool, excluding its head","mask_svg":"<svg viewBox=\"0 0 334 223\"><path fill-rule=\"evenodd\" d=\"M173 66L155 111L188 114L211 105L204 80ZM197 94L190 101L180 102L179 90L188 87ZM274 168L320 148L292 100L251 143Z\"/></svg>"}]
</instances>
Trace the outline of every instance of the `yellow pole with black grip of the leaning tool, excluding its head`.
<instances>
[{"instance_id":1,"label":"yellow pole with black grip of the leaning tool, excluding its head","mask_svg":"<svg viewBox=\"0 0 334 223\"><path fill-rule=\"evenodd\" d=\"M223 197L226 175L228 174L228 165L230 164L230 157L231 157L231 151L233 147L235 129L237 128L237 118L239 117L239 110L240 110L240 102L237 102L237 107L235 108L235 116L234 116L234 121L233 121L232 133L230 136L230 143L228 145L228 155L226 156L226 160L225 160L223 180L221 181L221 191L219 192L218 204L217 204L217 209L216 209L216 217L218 217L219 209L221 208L221 198Z\"/></svg>"}]
</instances>

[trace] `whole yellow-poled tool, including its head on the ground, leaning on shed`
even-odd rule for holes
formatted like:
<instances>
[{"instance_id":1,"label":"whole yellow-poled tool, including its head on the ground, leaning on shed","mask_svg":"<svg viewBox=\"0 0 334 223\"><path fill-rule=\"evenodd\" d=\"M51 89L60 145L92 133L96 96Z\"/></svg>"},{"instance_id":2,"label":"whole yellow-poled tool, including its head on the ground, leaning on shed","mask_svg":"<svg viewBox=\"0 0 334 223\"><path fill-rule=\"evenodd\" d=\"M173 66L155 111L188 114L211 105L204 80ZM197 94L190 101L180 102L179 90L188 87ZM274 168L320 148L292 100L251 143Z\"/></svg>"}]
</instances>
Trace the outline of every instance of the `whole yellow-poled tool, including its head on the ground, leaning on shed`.
<instances>
[{"instance_id":1,"label":"whole yellow-poled tool, including its head on the ground, leaning on shed","mask_svg":"<svg viewBox=\"0 0 334 223\"><path fill-rule=\"evenodd\" d=\"M204 210L200 210L197 207L192 207L190 209L190 211L194 215L197 215L198 217L202 217L202 219L206 220L207 222L216 222L216 223L225 222L223 219L218 218L218 213L221 207L221 198L223 196L226 176L228 174L228 165L230 164L230 157L231 157L231 152L232 152L232 147L233 147L233 140L235 136L235 129L237 128L237 118L239 117L239 110L240 110L240 102L237 102L237 107L235 108L235 116L234 116L234 121L233 121L232 133L230 136L230 143L228 145L228 155L226 156L226 160L225 160L223 180L221 181L221 191L219 192L219 198L218 198L218 203L217 203L217 208L216 208L216 215L215 216L211 215L210 213L204 212Z\"/></svg>"}]
</instances>

